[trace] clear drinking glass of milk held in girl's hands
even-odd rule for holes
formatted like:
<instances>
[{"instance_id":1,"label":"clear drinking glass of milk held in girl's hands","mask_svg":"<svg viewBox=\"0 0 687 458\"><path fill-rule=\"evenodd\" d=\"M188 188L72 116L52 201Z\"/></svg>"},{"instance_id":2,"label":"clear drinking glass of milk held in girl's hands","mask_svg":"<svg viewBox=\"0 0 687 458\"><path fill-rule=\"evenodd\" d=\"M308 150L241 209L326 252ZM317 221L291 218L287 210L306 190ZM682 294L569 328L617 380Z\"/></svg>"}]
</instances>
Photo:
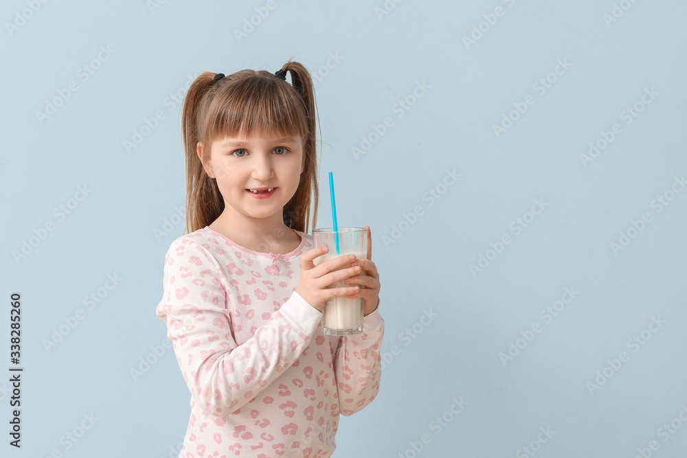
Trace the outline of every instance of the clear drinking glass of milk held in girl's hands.
<instances>
[{"instance_id":1,"label":"clear drinking glass of milk held in girl's hands","mask_svg":"<svg viewBox=\"0 0 687 458\"><path fill-rule=\"evenodd\" d=\"M337 254L336 237L339 238L339 254ZM333 227L313 229L313 242L315 248L326 245L329 249L326 254L315 257L315 266L322 264L334 257L341 255L355 255L356 259L368 257L368 231L364 227L339 227L335 232ZM337 269L349 268L350 264ZM359 274L365 275L365 271ZM346 288L352 284L345 280L334 282L329 288ZM353 284L355 285L355 284ZM358 285L364 288L362 285ZM363 306L365 300L362 297L349 299L348 297L334 297L326 301L323 311L324 334L335 336L350 336L363 332Z\"/></svg>"}]
</instances>

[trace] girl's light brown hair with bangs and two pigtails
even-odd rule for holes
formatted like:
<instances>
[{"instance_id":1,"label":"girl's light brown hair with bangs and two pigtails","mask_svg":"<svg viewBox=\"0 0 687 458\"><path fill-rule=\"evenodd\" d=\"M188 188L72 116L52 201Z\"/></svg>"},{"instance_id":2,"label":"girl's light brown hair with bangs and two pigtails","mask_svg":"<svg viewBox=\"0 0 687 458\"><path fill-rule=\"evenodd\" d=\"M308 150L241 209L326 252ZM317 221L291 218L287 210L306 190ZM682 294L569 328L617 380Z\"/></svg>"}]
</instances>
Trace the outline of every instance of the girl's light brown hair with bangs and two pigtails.
<instances>
[{"instance_id":1,"label":"girl's light brown hair with bangs and two pigtails","mask_svg":"<svg viewBox=\"0 0 687 458\"><path fill-rule=\"evenodd\" d=\"M282 70L291 73L291 84L269 71L248 69L216 82L216 73L203 71L192 82L181 110L181 139L186 158L184 235L210 225L224 210L217 181L203 168L210 159L210 148L203 148L202 163L196 148L199 141L210 145L226 136L300 135L305 167L298 189L284 205L282 216L286 226L308 233L312 200L313 227L317 224L315 91L308 70L291 59L282 66Z\"/></svg>"}]
</instances>

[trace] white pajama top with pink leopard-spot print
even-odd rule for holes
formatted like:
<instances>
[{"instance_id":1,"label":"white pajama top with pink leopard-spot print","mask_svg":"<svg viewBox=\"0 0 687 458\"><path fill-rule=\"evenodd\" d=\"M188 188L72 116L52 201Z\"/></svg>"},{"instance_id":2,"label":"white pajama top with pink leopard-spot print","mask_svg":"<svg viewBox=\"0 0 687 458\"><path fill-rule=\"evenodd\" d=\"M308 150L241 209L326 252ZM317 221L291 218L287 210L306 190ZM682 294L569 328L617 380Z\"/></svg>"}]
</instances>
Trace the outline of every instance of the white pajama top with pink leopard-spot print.
<instances>
[{"instance_id":1,"label":"white pajama top with pink leopard-spot print","mask_svg":"<svg viewBox=\"0 0 687 458\"><path fill-rule=\"evenodd\" d=\"M284 255L210 227L172 242L155 312L191 393L180 458L328 457L339 414L379 391L379 308L363 334L322 334L322 312L295 292L313 238L295 232L301 243Z\"/></svg>"}]
</instances>

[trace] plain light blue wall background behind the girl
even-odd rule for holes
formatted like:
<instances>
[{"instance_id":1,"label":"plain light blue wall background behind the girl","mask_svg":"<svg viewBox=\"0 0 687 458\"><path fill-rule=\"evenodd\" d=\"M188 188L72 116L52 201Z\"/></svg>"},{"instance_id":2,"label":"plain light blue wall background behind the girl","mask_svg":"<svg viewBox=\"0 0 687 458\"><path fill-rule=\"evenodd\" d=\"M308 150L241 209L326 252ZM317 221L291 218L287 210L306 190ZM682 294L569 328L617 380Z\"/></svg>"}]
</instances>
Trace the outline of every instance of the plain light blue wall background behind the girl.
<instances>
[{"instance_id":1,"label":"plain light blue wall background behind the girl","mask_svg":"<svg viewBox=\"0 0 687 458\"><path fill-rule=\"evenodd\" d=\"M27 1L5 1L0 354L9 361L9 298L19 292L25 370L21 450L7 444L0 382L0 455L177 456L190 395L172 350L130 374L166 340L155 306L164 255L183 233L173 218L185 200L179 105L169 97L201 71L276 71L295 54L317 74L317 226L331 225L332 170L339 225L372 229L386 323L381 391L341 417L335 457L413 457L425 434L418 457L528 456L540 427L554 434L537 457L630 458L652 440L652 456L684 456L687 423L674 421L666 442L658 430L687 406L687 192L668 193L660 213L651 202L687 174L687 3L615 3L631 8L607 24L611 0L387 1L396 6L381 17L381 0L277 0L238 40L234 30L266 1L36 1L31 13ZM462 37L498 6L504 14L466 49ZM30 18L10 32L17 14ZM113 53L82 80L101 46ZM533 85L559 59L571 66L540 95ZM36 112L71 81L78 91L41 122ZM429 89L398 117L418 82ZM658 95L624 124L622 111L651 88ZM497 137L493 124L527 95L534 104ZM127 152L123 142L158 110L165 119ZM393 125L355 157L386 117ZM589 142L616 123L622 133L585 167ZM447 169L460 178L441 187ZM79 186L91 192L77 203ZM430 206L423 196L437 187L445 192ZM511 222L534 199L545 209L515 234ZM54 213L69 203L78 205L65 218ZM416 206L423 213L403 224ZM651 222L613 253L610 242L645 212ZM156 236L170 219L172 231ZM17 262L46 222L54 230ZM504 234L510 244L473 275L470 264ZM108 275L122 280L89 310L83 299ZM546 323L541 310L566 287L578 295ZM47 351L44 339L78 309L85 318ZM425 310L437 317L416 324ZM627 342L652 317L665 323L633 352ZM541 332L504 367L499 353L535 323ZM590 392L620 352L629 360ZM9 362L0 367L9 374ZM436 434L431 422L453 398L467 404ZM95 424L67 442L90 413Z\"/></svg>"}]
</instances>

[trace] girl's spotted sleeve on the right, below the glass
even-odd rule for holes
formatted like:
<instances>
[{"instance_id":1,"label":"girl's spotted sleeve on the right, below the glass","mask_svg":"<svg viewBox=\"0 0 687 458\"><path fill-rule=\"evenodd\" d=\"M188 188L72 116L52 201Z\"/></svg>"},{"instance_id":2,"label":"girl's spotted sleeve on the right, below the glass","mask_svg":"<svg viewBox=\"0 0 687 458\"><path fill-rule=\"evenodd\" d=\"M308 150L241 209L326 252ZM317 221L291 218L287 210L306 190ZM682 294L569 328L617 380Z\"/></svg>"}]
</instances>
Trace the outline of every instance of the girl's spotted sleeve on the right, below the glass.
<instances>
[{"instance_id":1,"label":"girl's spotted sleeve on the right, below the glass","mask_svg":"<svg viewBox=\"0 0 687 458\"><path fill-rule=\"evenodd\" d=\"M377 396L383 337L379 303L374 312L363 317L363 334L341 337L334 357L341 415L353 415Z\"/></svg>"}]
</instances>

